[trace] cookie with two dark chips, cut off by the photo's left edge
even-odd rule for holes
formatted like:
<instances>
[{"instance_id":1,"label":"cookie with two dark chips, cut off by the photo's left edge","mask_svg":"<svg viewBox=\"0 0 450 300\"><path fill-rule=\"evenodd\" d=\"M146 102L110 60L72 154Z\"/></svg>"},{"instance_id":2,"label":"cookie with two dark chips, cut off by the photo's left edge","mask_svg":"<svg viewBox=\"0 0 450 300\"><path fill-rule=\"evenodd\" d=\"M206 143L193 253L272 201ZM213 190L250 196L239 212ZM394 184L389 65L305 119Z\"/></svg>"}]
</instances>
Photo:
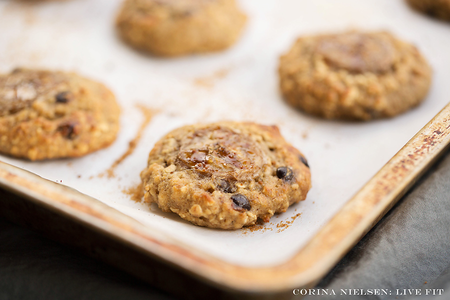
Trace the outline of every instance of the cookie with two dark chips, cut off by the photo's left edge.
<instances>
[{"instance_id":1,"label":"cookie with two dark chips, cut off by the photo's left edge","mask_svg":"<svg viewBox=\"0 0 450 300\"><path fill-rule=\"evenodd\" d=\"M81 156L115 139L118 118L112 92L75 73L0 74L0 153L30 160Z\"/></svg>"}]
</instances>

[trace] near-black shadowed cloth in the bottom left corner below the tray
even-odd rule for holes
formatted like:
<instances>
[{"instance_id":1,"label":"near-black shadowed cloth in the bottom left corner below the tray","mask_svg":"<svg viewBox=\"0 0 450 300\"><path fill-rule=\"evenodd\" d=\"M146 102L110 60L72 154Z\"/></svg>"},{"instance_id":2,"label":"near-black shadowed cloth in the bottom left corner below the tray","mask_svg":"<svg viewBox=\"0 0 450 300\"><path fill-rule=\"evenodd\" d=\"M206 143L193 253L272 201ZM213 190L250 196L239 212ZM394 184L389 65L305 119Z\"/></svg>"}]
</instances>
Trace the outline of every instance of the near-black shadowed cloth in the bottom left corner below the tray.
<instances>
[{"instance_id":1,"label":"near-black shadowed cloth in the bottom left corner below the tray","mask_svg":"<svg viewBox=\"0 0 450 300\"><path fill-rule=\"evenodd\" d=\"M0 218L0 299L173 299L93 258Z\"/></svg>"}]
</instances>

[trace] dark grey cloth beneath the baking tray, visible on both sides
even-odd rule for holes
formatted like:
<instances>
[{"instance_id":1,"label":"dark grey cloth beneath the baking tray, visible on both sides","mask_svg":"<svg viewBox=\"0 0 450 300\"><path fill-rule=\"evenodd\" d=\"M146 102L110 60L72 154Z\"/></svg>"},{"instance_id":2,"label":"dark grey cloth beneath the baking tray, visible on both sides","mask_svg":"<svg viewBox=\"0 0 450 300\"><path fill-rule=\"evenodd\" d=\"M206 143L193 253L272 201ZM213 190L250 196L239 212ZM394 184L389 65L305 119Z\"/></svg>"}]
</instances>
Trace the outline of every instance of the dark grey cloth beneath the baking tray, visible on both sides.
<instances>
[{"instance_id":1,"label":"dark grey cloth beneath the baking tray, visible on both sides","mask_svg":"<svg viewBox=\"0 0 450 300\"><path fill-rule=\"evenodd\" d=\"M425 283L426 281L426 283ZM404 196L306 299L450 299L450 153ZM340 289L390 295L340 295ZM396 289L420 289L398 295ZM425 289L443 288L443 295ZM188 291L186 291L188 292ZM292 295L292 298L299 296ZM124 272L0 218L0 299L173 299Z\"/></svg>"}]
</instances>

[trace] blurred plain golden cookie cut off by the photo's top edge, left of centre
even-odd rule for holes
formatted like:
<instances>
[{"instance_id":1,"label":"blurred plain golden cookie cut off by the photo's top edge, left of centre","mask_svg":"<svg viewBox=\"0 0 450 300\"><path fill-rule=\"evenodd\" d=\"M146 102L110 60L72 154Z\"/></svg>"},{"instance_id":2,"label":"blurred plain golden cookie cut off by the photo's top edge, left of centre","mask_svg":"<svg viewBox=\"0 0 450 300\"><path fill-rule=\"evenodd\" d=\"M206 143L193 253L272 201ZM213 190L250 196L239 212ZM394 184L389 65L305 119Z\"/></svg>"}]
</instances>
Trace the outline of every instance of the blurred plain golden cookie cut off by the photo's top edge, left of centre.
<instances>
[{"instance_id":1,"label":"blurred plain golden cookie cut off by the photo's top edge, left of centre","mask_svg":"<svg viewBox=\"0 0 450 300\"><path fill-rule=\"evenodd\" d=\"M229 47L245 21L234 0L125 0L116 26L135 48L176 56Z\"/></svg>"}]
</instances>

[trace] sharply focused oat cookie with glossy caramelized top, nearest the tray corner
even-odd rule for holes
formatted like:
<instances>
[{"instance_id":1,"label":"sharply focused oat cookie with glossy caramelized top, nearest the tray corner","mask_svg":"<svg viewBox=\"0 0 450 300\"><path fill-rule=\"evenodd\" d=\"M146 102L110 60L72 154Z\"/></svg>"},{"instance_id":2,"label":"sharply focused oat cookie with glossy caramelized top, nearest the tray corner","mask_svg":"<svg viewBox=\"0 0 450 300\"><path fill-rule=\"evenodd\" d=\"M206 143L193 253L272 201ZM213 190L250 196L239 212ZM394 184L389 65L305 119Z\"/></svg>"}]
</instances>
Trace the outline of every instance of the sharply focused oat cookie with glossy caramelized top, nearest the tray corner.
<instances>
[{"instance_id":1,"label":"sharply focused oat cookie with glossy caramelized top, nearest the tray corner","mask_svg":"<svg viewBox=\"0 0 450 300\"><path fill-rule=\"evenodd\" d=\"M276 126L218 122L175 129L151 150L140 174L144 200L200 226L265 222L304 200L304 156Z\"/></svg>"}]
</instances>

